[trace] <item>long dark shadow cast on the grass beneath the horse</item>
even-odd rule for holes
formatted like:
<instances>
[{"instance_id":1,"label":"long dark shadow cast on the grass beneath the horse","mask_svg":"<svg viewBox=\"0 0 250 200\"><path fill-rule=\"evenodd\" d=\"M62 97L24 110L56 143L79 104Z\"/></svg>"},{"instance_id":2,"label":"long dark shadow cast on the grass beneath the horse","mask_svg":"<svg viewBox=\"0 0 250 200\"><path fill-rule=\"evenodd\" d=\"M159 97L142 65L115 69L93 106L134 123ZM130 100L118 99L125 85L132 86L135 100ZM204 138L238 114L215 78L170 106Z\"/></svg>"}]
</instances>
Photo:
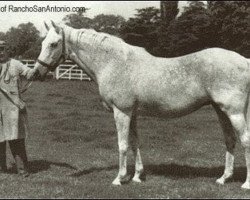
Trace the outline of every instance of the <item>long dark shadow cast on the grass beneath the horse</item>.
<instances>
[{"instance_id":1,"label":"long dark shadow cast on the grass beneath the horse","mask_svg":"<svg viewBox=\"0 0 250 200\"><path fill-rule=\"evenodd\" d=\"M132 175L134 173L134 166L128 166L128 174ZM85 169L78 171L70 176L79 177L87 175L90 173L100 172L100 171L110 171L117 170L119 167L93 167L90 169ZM145 173L142 174L142 180L146 180L146 175L155 176L165 176L169 178L198 178L198 177L208 177L208 178L219 178L224 171L224 166L219 167L193 167L188 165L179 165L175 163L171 164L160 164L160 165L145 165ZM246 168L245 167L235 167L234 175L231 181L245 181L246 178Z\"/></svg>"}]
</instances>

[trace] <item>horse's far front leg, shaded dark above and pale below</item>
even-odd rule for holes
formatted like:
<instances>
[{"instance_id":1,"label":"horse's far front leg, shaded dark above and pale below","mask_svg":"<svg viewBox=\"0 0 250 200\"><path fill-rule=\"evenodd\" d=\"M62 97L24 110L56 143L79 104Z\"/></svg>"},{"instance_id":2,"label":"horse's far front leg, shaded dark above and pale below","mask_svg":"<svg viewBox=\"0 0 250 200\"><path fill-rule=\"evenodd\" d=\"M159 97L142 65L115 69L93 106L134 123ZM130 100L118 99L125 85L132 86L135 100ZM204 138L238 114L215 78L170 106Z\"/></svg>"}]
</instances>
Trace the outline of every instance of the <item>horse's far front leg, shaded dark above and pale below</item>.
<instances>
[{"instance_id":1,"label":"horse's far front leg, shaded dark above and pale below","mask_svg":"<svg viewBox=\"0 0 250 200\"><path fill-rule=\"evenodd\" d=\"M136 111L134 111L134 113L132 114L132 119L130 123L130 133L129 133L129 140L135 158L135 174L132 180L140 183L141 182L140 176L143 172L143 164L139 150L139 137L137 133L136 124L137 124Z\"/></svg>"}]
</instances>

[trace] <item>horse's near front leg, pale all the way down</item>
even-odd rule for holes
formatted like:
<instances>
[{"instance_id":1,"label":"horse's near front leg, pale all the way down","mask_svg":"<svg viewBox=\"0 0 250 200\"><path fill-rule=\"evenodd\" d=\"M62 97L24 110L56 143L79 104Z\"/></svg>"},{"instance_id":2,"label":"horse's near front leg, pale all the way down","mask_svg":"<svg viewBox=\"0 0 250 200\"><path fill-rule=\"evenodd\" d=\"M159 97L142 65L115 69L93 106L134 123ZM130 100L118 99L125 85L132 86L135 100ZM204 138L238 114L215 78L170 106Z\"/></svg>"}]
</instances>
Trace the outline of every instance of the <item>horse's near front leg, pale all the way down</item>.
<instances>
[{"instance_id":1,"label":"horse's near front leg, pale all the way down","mask_svg":"<svg viewBox=\"0 0 250 200\"><path fill-rule=\"evenodd\" d=\"M112 184L121 185L122 179L127 175L127 151L131 112L122 112L114 107L114 118L118 133L119 146L119 172Z\"/></svg>"}]
</instances>

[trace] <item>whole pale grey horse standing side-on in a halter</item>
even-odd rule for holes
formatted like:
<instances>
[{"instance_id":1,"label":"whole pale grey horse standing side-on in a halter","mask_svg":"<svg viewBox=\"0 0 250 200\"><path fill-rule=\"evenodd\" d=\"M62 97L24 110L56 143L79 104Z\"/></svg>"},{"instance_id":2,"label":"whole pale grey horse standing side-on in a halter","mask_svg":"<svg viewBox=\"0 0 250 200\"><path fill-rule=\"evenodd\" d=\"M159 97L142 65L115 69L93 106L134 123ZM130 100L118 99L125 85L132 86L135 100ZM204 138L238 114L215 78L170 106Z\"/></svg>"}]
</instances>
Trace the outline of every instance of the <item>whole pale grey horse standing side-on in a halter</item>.
<instances>
[{"instance_id":1,"label":"whole pale grey horse standing side-on in a halter","mask_svg":"<svg viewBox=\"0 0 250 200\"><path fill-rule=\"evenodd\" d=\"M250 189L250 61L236 52L209 48L181 57L160 58L122 39L89 29L66 25L51 28L35 64L45 77L66 56L97 83L105 107L114 113L118 132L119 172L113 184L121 185L127 174L129 145L135 156L133 181L141 182L143 164L136 117L173 118L204 105L218 114L227 147L224 184L233 174L234 148L239 136L245 148L247 177L242 188Z\"/></svg>"}]
</instances>

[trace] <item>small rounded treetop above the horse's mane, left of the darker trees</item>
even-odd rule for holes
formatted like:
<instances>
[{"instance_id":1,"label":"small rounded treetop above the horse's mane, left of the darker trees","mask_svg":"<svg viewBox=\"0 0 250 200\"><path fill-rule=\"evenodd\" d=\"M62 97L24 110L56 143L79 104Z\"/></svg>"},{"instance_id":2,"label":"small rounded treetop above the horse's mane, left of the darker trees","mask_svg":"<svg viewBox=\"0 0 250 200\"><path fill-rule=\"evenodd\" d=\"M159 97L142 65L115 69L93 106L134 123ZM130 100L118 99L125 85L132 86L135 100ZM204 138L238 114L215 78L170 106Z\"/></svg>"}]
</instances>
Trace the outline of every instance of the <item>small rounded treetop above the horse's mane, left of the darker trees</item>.
<instances>
[{"instance_id":1,"label":"small rounded treetop above the horse's mane, left of the darker trees","mask_svg":"<svg viewBox=\"0 0 250 200\"><path fill-rule=\"evenodd\" d=\"M93 18L91 27L96 31L119 35L119 29L125 23L125 19L120 15L100 14Z\"/></svg>"}]
</instances>

